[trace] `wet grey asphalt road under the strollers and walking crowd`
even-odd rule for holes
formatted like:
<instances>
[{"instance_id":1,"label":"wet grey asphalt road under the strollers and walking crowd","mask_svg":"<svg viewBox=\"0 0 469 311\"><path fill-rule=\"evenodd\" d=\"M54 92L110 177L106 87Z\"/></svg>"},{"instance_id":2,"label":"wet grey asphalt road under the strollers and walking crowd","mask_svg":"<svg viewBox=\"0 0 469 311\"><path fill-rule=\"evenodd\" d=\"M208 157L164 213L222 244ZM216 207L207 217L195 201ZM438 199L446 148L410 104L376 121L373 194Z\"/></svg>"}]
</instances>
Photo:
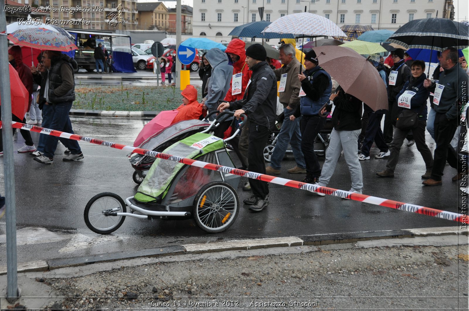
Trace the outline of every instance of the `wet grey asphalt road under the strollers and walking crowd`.
<instances>
[{"instance_id":1,"label":"wet grey asphalt road under the strollers and walking crowd","mask_svg":"<svg viewBox=\"0 0 469 311\"><path fill-rule=\"evenodd\" d=\"M83 118L72 117L76 133L132 145L136 135L149 119ZM32 133L38 141L38 133ZM427 141L431 141L427 134ZM18 135L14 148L20 148L23 138ZM124 151L80 142L84 159L76 162L61 161L64 146L59 144L52 165L32 160L28 154L15 153L16 219L19 234L25 242L18 246L19 261L38 258L50 259L89 255L103 252L134 251L171 244L206 243L215 240L243 238L303 236L326 233L397 230L439 226L455 226L425 215L379 207L336 197L318 197L306 191L271 184L270 205L261 213L252 213L241 206L240 215L227 231L207 234L192 220L147 221L127 218L121 228L110 236L91 232L83 221L83 209L94 195L113 192L122 198L135 194L137 185L132 180L133 169ZM429 144L433 151L433 143ZM416 146L401 149L401 159L395 178L377 178L375 172L383 170L385 159L375 159L379 152L372 148L372 158L362 161L363 193L390 200L457 212L458 186L451 181L454 169L446 166L443 185L424 187L420 176L424 162ZM234 153L235 165L239 166ZM0 163L3 160L0 158ZM321 164L324 158L320 158ZM293 156L282 163L283 178L301 180L303 174L288 174L295 166ZM4 193L3 165L1 165L0 191ZM238 186L240 200L251 195L242 191L247 179ZM350 175L341 157L329 186L348 190ZM45 228L45 232L29 227ZM31 231L32 230L32 231ZM52 233L50 232L52 231ZM5 217L0 221L0 265L6 247L1 235L5 234ZM91 241L91 242L90 242Z\"/></svg>"}]
</instances>

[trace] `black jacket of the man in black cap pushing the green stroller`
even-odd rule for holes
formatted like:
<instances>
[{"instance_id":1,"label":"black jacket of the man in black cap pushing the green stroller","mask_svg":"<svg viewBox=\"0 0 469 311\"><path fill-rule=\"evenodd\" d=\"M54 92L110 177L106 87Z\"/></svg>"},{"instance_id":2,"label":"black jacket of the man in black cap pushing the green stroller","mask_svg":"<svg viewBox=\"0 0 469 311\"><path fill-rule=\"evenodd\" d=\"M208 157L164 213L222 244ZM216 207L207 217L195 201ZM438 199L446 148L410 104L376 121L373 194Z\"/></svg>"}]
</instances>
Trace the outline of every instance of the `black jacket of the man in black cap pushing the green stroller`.
<instances>
[{"instance_id":1,"label":"black jacket of the man in black cap pushing the green stroller","mask_svg":"<svg viewBox=\"0 0 469 311\"><path fill-rule=\"evenodd\" d=\"M277 117L277 78L265 61L257 63L251 70L251 82L244 97L231 102L230 109L242 109L249 122L272 128Z\"/></svg>"}]
</instances>

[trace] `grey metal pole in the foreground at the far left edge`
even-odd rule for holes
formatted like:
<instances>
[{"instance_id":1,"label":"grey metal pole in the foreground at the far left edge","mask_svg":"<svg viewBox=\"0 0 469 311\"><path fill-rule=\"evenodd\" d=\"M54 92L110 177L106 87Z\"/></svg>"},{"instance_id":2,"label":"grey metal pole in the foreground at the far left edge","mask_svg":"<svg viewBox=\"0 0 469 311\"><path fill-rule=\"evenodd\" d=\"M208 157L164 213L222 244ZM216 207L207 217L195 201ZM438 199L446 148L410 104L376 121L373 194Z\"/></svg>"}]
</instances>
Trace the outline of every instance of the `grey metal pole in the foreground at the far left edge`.
<instances>
[{"instance_id":1,"label":"grey metal pole in the foreground at the far left edge","mask_svg":"<svg viewBox=\"0 0 469 311\"><path fill-rule=\"evenodd\" d=\"M5 7L5 0L0 0ZM0 83L3 138L3 171L5 173L5 206L7 222L7 300L13 303L20 296L16 262L15 163L13 159L13 131L11 126L10 73L8 65L7 19L0 10Z\"/></svg>"}]
</instances>

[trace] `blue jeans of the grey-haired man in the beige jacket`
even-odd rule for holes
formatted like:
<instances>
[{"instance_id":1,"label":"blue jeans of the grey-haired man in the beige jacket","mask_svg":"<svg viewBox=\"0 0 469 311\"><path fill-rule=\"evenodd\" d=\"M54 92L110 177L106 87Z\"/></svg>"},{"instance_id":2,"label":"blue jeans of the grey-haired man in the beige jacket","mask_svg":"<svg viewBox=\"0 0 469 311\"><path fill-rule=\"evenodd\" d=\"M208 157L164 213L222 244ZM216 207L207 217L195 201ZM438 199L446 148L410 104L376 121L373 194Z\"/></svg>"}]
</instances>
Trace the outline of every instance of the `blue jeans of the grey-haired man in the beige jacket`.
<instances>
[{"instance_id":1,"label":"blue jeans of the grey-haired man in the beige jacket","mask_svg":"<svg viewBox=\"0 0 469 311\"><path fill-rule=\"evenodd\" d=\"M296 165L302 169L306 168L303 152L301 151L300 118L295 118L294 121L290 121L290 116L294 112L295 110L293 109L285 108L283 110L285 118L283 119L280 133L277 136L278 139L275 143L275 149L273 149L271 158L271 165L276 170L280 170L282 166L281 162L287 151L288 143L292 146Z\"/></svg>"}]
</instances>

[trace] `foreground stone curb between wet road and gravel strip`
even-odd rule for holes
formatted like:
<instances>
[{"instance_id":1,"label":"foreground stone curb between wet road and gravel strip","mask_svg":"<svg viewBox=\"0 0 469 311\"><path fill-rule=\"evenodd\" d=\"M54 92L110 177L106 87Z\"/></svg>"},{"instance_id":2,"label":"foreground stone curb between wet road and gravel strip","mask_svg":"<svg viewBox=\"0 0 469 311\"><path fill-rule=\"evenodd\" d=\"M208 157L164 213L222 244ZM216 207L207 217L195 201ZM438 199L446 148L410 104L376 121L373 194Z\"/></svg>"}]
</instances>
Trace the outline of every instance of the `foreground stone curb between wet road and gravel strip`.
<instances>
[{"instance_id":1,"label":"foreground stone curb between wet road and gravel strip","mask_svg":"<svg viewBox=\"0 0 469 311\"><path fill-rule=\"evenodd\" d=\"M50 259L30 261L18 264L18 273L32 271L47 271L64 267L79 267L94 263L112 262L124 259L164 257L182 254L201 254L211 252L225 252L236 250L251 250L273 247L292 247L303 245L345 244L358 241L432 237L448 235L469 236L468 229L460 227L436 227L406 230L383 230L367 232L349 232L334 234L318 234L300 237L274 237L252 240L232 240L227 242L214 242L202 244L182 244L149 248L134 252L111 252L91 256L79 256L63 259ZM0 266L0 275L7 274L7 266Z\"/></svg>"}]
</instances>

